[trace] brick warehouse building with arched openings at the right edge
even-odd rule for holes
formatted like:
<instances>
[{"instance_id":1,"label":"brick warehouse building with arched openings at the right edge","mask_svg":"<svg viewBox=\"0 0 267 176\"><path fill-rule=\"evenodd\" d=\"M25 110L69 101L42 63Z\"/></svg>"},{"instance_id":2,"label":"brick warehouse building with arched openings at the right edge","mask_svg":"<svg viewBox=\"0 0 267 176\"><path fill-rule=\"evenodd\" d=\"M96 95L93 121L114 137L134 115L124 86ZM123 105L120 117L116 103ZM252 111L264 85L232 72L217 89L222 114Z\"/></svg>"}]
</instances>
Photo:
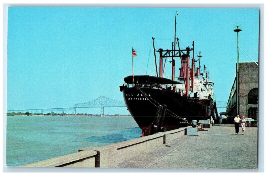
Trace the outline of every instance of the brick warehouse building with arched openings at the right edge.
<instances>
[{"instance_id":1,"label":"brick warehouse building with arched openings at the right edge","mask_svg":"<svg viewBox=\"0 0 267 176\"><path fill-rule=\"evenodd\" d=\"M255 62L239 63L238 76L235 77L226 106L228 123L233 123L235 116L238 114L240 116L244 115L247 120L252 119L250 121L253 126L257 125L259 75L257 64Z\"/></svg>"}]
</instances>

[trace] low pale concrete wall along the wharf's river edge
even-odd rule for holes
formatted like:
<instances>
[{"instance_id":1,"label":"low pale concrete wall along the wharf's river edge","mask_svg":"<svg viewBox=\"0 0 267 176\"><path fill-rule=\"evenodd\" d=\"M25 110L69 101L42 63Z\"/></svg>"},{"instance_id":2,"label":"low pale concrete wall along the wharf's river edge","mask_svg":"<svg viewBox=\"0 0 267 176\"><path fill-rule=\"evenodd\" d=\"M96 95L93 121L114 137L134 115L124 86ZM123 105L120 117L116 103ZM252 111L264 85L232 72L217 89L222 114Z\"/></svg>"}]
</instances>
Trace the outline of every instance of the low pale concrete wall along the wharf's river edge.
<instances>
[{"instance_id":1,"label":"low pale concrete wall along the wharf's river edge","mask_svg":"<svg viewBox=\"0 0 267 176\"><path fill-rule=\"evenodd\" d=\"M21 165L20 167L117 167L117 163L182 137L186 128L159 132L107 146L86 147L73 154Z\"/></svg>"}]
</instances>

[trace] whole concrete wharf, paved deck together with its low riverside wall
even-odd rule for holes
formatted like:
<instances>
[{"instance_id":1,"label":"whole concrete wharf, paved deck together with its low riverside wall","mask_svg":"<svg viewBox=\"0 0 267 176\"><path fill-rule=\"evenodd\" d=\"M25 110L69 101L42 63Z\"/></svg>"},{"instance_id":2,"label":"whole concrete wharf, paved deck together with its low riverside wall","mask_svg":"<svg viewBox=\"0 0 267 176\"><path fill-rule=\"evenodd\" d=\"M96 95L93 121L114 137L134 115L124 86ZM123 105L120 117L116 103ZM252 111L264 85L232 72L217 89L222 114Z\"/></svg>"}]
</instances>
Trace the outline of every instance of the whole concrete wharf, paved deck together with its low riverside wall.
<instances>
[{"instance_id":1,"label":"whole concrete wharf, paved deck together with its low riverside wall","mask_svg":"<svg viewBox=\"0 0 267 176\"><path fill-rule=\"evenodd\" d=\"M185 127L106 146L81 148L73 154L19 167L153 168L153 171L176 169L175 172L184 169L262 170L262 151L259 152L260 164L257 164L257 127L247 127L244 135L240 128L235 135L233 125L215 125L198 131L199 136L185 135L189 128L193 130ZM264 144L261 142L261 145Z\"/></svg>"}]
</instances>

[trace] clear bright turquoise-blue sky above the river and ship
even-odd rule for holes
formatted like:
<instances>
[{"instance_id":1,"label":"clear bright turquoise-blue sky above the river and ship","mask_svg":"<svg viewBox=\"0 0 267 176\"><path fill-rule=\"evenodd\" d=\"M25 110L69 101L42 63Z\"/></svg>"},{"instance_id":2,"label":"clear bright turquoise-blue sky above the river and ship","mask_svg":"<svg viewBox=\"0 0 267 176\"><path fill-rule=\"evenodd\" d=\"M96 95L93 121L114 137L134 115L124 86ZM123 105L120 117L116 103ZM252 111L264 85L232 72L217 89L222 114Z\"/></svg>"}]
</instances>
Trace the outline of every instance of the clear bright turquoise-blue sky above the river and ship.
<instances>
[{"instance_id":1,"label":"clear bright turquoise-blue sky above the river and ship","mask_svg":"<svg viewBox=\"0 0 267 176\"><path fill-rule=\"evenodd\" d=\"M258 9L10 7L7 110L73 107L101 95L122 101L119 86L132 74L132 46L134 74L145 75L148 63L147 75L155 76L152 37L156 49L171 49L176 11L180 47L195 41L216 100L227 101L237 58L234 24L242 24L239 47L258 61ZM253 61L240 50L239 62ZM165 77L171 78L168 62ZM80 112L100 113L100 108ZM126 108L105 113L129 114Z\"/></svg>"}]
</instances>

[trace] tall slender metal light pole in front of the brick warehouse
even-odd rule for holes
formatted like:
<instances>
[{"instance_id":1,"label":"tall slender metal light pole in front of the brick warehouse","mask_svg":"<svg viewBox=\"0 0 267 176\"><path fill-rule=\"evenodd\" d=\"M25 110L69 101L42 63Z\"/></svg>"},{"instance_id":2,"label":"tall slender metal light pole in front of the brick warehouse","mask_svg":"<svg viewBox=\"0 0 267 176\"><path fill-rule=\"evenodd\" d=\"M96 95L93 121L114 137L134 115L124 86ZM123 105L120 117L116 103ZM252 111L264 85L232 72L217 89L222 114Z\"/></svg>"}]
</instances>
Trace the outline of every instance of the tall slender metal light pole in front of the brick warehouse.
<instances>
[{"instance_id":1,"label":"tall slender metal light pole in front of the brick warehouse","mask_svg":"<svg viewBox=\"0 0 267 176\"><path fill-rule=\"evenodd\" d=\"M241 31L241 29L238 27L240 27L240 25L236 25L235 26L236 29L234 29L234 32L237 32L237 63L236 63L236 80L235 80L235 83L236 83L236 112L237 112L237 115L239 114L239 108L238 108L238 98L239 98L239 91L238 91L238 83L239 83L239 79L238 79L238 76L239 76L239 32Z\"/></svg>"}]
</instances>

